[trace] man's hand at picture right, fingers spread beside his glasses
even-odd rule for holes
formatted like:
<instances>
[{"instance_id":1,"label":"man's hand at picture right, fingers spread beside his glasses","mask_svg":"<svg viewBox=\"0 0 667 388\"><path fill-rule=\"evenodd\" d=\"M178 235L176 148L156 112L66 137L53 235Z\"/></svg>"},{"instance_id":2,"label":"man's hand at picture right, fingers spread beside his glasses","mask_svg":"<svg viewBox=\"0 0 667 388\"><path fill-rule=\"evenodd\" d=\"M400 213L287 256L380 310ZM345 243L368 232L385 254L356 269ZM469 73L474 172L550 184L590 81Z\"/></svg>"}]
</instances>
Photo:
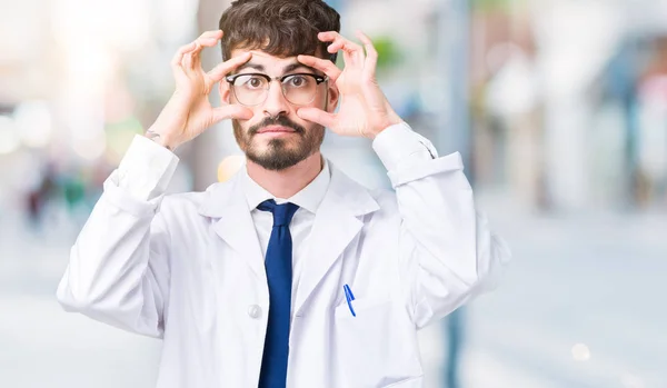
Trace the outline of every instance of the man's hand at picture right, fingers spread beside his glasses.
<instances>
[{"instance_id":1,"label":"man's hand at picture right, fingers spread beside his glasses","mask_svg":"<svg viewBox=\"0 0 667 388\"><path fill-rule=\"evenodd\" d=\"M361 46L342 38L338 32L320 32L318 39L331 42L328 51L342 50L345 69L341 71L330 60L299 56L299 62L322 71L340 91L338 113L317 108L301 108L297 115L303 120L317 122L341 136L364 136L374 139L385 128L401 122L376 80L378 53L364 33L357 37Z\"/></svg>"}]
</instances>

